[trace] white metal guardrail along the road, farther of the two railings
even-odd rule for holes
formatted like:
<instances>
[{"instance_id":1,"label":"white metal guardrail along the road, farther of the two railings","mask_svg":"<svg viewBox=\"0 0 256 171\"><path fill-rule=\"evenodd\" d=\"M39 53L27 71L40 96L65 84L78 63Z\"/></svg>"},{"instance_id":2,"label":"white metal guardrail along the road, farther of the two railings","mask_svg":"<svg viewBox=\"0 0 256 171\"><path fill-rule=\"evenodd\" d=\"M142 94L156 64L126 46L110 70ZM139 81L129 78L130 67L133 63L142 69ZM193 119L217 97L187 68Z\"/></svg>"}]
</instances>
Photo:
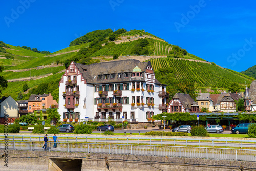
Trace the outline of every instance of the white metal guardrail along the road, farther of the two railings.
<instances>
[{"instance_id":1,"label":"white metal guardrail along the road, farther of the two railings","mask_svg":"<svg viewBox=\"0 0 256 171\"><path fill-rule=\"evenodd\" d=\"M128 133L127 133L128 134ZM3 138L2 138L3 137ZM12 137L10 139L10 137ZM44 136L38 136L38 135L8 135L7 137L5 137L4 135L0 135L0 140L5 140L9 139L12 141L15 141L15 138L22 138L21 141L23 141L23 138L25 137L29 137L30 141L32 141L32 137L37 138L38 137L38 141L42 141L44 139ZM49 139L52 139L51 136L48 135ZM59 139L66 139L66 142L68 142L68 140L76 140L76 142L78 141L83 141L85 139L85 142L87 142L87 139L95 139L95 143L97 143L97 140L99 139L105 139L105 142L107 143L107 139L116 139L116 143L118 143L118 139L124 139L127 140L126 143L129 144L129 140L133 140L132 143L134 143L134 140L138 140L138 144L140 144L140 140L150 140L150 144L151 141L157 140L160 141L161 140L161 145L163 145L163 140L167 140L167 142L172 142L174 145L177 141L186 141L186 146L188 145L189 141L191 142L198 142L199 146L201 145L201 142L211 142L212 147L214 145L217 145L214 142L222 142L222 143L226 143L226 147L228 147L228 144L230 142L232 143L240 143L240 147L242 148L242 144L243 143L251 143L251 147L256 147L256 140L232 140L232 139L203 139L203 138L167 138L167 137L163 137L163 138L155 138L155 137L126 137L126 136L58 136ZM169 141L168 141L169 140ZM176 141L176 142L175 142ZM255 144L253 144L255 143ZM220 146L224 146L223 144Z\"/></svg>"}]
</instances>

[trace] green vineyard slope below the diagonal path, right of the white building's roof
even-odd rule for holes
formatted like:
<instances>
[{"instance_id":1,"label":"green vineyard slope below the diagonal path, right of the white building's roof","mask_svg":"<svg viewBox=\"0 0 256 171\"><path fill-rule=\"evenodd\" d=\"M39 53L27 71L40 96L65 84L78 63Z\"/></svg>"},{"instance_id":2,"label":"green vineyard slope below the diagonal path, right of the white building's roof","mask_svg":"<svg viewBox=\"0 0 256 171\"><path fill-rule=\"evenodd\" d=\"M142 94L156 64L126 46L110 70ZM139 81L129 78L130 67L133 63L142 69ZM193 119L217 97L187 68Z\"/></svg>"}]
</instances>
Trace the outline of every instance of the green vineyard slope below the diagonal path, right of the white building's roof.
<instances>
[{"instance_id":1,"label":"green vineyard slope below the diagonal path, right of the white building's roof","mask_svg":"<svg viewBox=\"0 0 256 171\"><path fill-rule=\"evenodd\" d=\"M245 81L250 84L253 80L251 77L220 68L214 64L172 58L151 59L151 63L154 70L158 68L175 69L176 79L189 80L196 83L197 87L228 88L232 82L244 85Z\"/></svg>"}]
</instances>

